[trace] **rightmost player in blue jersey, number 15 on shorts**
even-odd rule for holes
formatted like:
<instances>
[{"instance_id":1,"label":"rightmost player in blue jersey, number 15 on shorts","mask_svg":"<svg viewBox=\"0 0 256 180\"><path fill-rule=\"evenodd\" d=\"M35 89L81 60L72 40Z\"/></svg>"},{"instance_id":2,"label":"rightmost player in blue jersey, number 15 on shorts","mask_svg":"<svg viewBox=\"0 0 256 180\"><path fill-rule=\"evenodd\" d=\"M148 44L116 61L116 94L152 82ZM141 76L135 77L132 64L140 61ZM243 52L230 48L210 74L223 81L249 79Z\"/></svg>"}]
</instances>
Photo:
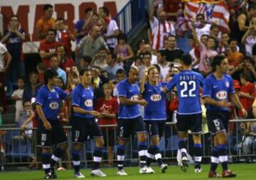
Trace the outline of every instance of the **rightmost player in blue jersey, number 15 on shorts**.
<instances>
[{"instance_id":1,"label":"rightmost player in blue jersey, number 15 on shorts","mask_svg":"<svg viewBox=\"0 0 256 180\"><path fill-rule=\"evenodd\" d=\"M232 106L230 99L247 116L245 108L235 94L233 79L227 73L228 60L225 56L217 55L211 62L212 72L203 84L203 99L206 102L208 127L213 134L213 151L211 155L210 172L208 177L218 177L216 173L218 162L223 167L223 177L235 177L228 170L228 108Z\"/></svg>"}]
</instances>

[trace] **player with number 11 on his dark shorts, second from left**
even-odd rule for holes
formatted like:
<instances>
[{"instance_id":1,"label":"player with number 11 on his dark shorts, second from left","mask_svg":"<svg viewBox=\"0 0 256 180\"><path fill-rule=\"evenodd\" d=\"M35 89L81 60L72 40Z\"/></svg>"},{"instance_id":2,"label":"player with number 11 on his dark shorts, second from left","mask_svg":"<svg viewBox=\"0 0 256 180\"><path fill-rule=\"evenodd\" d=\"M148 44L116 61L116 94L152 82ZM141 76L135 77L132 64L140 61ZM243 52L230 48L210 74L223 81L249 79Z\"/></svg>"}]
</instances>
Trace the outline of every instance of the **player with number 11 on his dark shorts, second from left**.
<instances>
[{"instance_id":1,"label":"player with number 11 on his dark shorts, second from left","mask_svg":"<svg viewBox=\"0 0 256 180\"><path fill-rule=\"evenodd\" d=\"M93 111L94 93L90 86L92 82L92 72L90 69L80 71L81 83L72 91L72 140L73 140L73 167L75 169L75 178L84 178L80 172L80 150L82 144L87 140L89 135L96 142L95 152L93 153L94 165L91 175L106 176L99 168L102 160L102 148L104 140L102 130L95 122L95 117L100 115Z\"/></svg>"}]
</instances>

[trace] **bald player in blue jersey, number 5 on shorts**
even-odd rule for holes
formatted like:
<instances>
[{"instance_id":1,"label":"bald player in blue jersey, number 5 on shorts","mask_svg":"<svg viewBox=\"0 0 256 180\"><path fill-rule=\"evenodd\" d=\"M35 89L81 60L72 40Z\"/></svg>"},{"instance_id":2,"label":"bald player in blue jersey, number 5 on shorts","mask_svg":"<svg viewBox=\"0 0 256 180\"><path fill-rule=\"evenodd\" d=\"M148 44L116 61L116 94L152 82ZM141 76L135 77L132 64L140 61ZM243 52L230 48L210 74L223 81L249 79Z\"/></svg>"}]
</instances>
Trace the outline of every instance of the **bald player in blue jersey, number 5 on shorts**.
<instances>
[{"instance_id":1,"label":"bald player in blue jersey, number 5 on shorts","mask_svg":"<svg viewBox=\"0 0 256 180\"><path fill-rule=\"evenodd\" d=\"M117 146L118 176L125 176L124 171L124 151L126 141L134 132L137 133L139 142L140 174L146 174L146 128L139 111L139 105L146 106L144 99L139 99L139 86L137 79L139 70L137 67L129 69L129 77L120 81L117 85L119 94L119 110L117 121L117 136L119 145Z\"/></svg>"}]
</instances>

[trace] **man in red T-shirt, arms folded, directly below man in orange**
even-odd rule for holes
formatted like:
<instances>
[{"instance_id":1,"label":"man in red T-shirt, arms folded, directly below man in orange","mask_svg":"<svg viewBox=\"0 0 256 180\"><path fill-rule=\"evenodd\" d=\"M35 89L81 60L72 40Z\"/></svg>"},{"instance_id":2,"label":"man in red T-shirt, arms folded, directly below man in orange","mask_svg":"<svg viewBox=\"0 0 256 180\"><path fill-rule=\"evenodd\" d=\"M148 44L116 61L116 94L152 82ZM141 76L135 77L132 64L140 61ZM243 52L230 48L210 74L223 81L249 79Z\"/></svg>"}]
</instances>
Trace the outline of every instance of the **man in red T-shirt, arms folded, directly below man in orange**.
<instances>
[{"instance_id":1,"label":"man in red T-shirt, arms folded, directly below man in orange","mask_svg":"<svg viewBox=\"0 0 256 180\"><path fill-rule=\"evenodd\" d=\"M55 41L56 30L48 29L46 31L46 40L42 41L39 46L39 55L43 64L50 67L50 58L56 56L56 47L59 43Z\"/></svg>"}]
</instances>

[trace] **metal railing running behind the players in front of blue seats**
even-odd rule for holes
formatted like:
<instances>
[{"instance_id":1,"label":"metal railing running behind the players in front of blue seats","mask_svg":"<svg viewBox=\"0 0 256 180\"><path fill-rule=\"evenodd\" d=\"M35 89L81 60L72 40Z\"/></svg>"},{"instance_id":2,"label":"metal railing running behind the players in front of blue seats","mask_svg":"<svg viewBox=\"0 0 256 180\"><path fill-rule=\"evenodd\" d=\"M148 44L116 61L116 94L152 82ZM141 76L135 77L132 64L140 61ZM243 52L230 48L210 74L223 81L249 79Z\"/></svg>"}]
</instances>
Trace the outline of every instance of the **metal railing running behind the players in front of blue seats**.
<instances>
[{"instance_id":1,"label":"metal railing running behind the players in front of blue seats","mask_svg":"<svg viewBox=\"0 0 256 180\"><path fill-rule=\"evenodd\" d=\"M234 124L232 131L228 132L228 152L230 155L230 161L233 159L235 161L244 161L247 157L256 157L256 145L252 145L251 154L245 154L243 151L243 145L245 138L248 137L245 130L241 129L241 123L256 123L256 119L245 119L245 120L230 120L230 123ZM108 134L110 129L114 129L114 162L117 161L116 150L117 150L117 126L116 125L100 125L101 128L105 128ZM30 137L24 137L21 135L21 130L19 128L0 128L0 142L4 144L5 147L5 159L4 164L14 165L14 164L29 164L33 159L40 155L41 148L37 147L37 128L31 128L33 134ZM71 127L65 126L66 134L68 136L68 153L70 154L72 150L71 142ZM3 132L6 133L3 133ZM255 138L255 137L254 137ZM256 142L256 141L255 141ZM1 147L0 143L0 147ZM103 162L107 162L107 146L108 140L105 141L106 147L103 149ZM148 142L149 144L149 142ZM210 133L204 133L202 135L203 144L203 162L208 162L211 151L212 137ZM127 164L138 162L137 153L138 142L136 135L131 135L126 146L126 162ZM178 135L176 133L176 124L167 122L164 136L161 137L159 145L161 154L165 161L176 163L176 154L178 152ZM54 149L54 147L53 147ZM81 162L87 167L87 164L92 162L93 151L95 149L95 142L89 137L85 141L84 147L81 152ZM188 135L188 153L193 157L193 140L192 136ZM70 163L68 161L62 161L62 163ZM0 164L3 162L0 162ZM40 162L38 162L40 163Z\"/></svg>"}]
</instances>

